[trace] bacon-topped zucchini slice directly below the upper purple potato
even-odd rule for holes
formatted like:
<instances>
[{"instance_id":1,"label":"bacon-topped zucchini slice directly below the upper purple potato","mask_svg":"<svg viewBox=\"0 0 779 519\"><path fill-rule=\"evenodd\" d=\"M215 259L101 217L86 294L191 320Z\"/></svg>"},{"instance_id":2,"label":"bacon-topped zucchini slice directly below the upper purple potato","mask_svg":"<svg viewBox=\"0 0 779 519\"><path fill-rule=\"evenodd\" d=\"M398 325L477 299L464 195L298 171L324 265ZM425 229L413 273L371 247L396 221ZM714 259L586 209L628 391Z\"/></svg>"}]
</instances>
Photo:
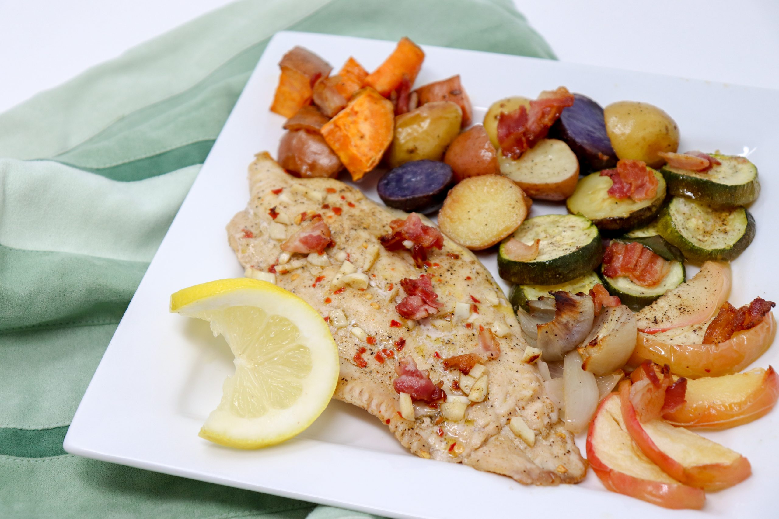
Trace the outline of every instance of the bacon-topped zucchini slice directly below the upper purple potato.
<instances>
[{"instance_id":1,"label":"bacon-topped zucchini slice directly below the upper purple potato","mask_svg":"<svg viewBox=\"0 0 779 519\"><path fill-rule=\"evenodd\" d=\"M593 173L580 179L566 206L572 214L592 220L601 230L631 230L650 223L660 211L665 198L665 180L660 172L649 168L657 178L657 195L636 202L633 198L614 198L608 195L612 179Z\"/></svg>"}]
</instances>

